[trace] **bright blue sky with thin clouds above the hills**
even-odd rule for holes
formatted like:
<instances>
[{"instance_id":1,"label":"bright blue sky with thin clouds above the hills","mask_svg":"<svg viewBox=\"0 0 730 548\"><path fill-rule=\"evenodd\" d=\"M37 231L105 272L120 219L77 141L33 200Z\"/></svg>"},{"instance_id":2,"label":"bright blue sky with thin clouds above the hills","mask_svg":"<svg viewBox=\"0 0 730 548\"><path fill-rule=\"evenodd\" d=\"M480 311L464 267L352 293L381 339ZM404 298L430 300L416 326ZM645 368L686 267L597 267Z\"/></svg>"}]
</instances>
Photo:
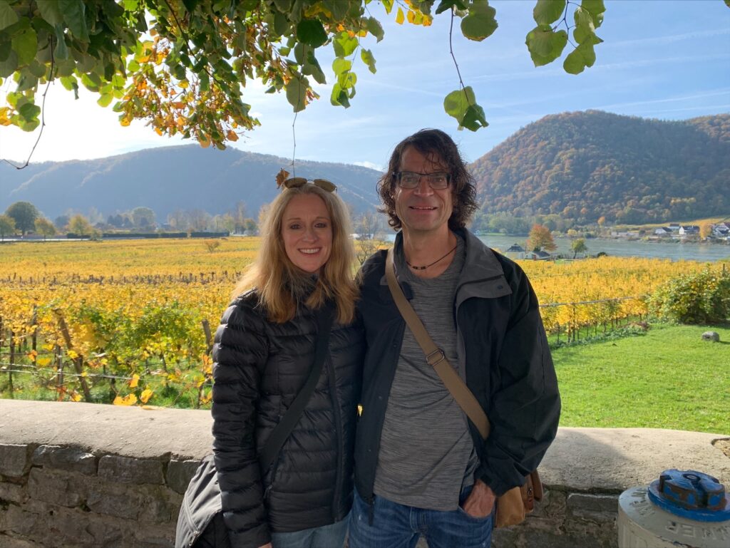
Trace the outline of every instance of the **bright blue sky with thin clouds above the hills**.
<instances>
[{"instance_id":1,"label":"bright blue sky with thin clouds above the hills","mask_svg":"<svg viewBox=\"0 0 730 548\"><path fill-rule=\"evenodd\" d=\"M577 76L566 74L562 61L533 66L524 39L534 27L534 0L490 4L499 21L492 36L483 42L464 39L456 20L453 38L461 76L475 89L488 128L457 131L456 120L443 110L444 96L458 88L449 16L437 15L430 28L399 26L395 12L385 15L373 2L369 9L383 23L385 39L376 44L368 38L364 47L377 60L377 74L356 61L357 95L350 109L329 104L329 85L315 88L322 99L296 120L296 158L381 168L404 136L432 127L451 134L465 158L474 161L518 129L558 112L601 109L663 120L730 112L730 9L723 0L606 0L596 64ZM318 58L331 80L330 47ZM262 127L233 146L289 158L293 112L283 94L263 90L261 85L245 90ZM144 122L121 128L110 108L96 105L93 93L82 89L80 94L74 101L61 85L52 86L34 161L185 143L158 137ZM0 128L0 158L25 160L34 142L34 134Z\"/></svg>"}]
</instances>

